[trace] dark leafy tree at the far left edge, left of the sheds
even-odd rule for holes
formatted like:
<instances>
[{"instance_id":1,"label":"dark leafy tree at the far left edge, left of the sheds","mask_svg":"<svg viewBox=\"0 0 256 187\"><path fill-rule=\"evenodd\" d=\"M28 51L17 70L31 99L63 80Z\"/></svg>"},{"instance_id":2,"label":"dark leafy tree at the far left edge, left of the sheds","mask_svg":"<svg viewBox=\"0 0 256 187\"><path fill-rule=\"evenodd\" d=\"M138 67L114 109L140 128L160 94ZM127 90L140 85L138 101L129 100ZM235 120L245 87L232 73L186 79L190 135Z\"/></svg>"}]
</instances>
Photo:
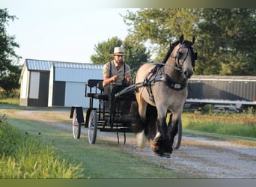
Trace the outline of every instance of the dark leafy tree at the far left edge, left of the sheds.
<instances>
[{"instance_id":1,"label":"dark leafy tree at the far left edge, left of the sheds","mask_svg":"<svg viewBox=\"0 0 256 187\"><path fill-rule=\"evenodd\" d=\"M14 49L19 45L14 41L15 37L7 34L5 26L9 20L16 19L10 16L7 9L0 9L0 87L10 93L19 88L19 75L21 67L16 65L19 56Z\"/></svg>"}]
</instances>

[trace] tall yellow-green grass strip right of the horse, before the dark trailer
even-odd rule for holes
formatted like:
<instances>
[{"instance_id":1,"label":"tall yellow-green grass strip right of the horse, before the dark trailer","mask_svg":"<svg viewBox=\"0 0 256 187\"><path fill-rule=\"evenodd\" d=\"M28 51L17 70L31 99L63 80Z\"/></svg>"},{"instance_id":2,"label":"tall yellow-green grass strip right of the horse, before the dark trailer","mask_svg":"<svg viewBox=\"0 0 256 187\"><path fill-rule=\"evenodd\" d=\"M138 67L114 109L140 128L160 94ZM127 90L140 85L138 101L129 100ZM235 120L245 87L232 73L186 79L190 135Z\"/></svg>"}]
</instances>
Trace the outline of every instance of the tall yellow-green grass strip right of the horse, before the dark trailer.
<instances>
[{"instance_id":1,"label":"tall yellow-green grass strip right of the horse, before the dark trailer","mask_svg":"<svg viewBox=\"0 0 256 187\"><path fill-rule=\"evenodd\" d=\"M182 115L183 129L256 138L255 114L192 114Z\"/></svg>"}]
</instances>

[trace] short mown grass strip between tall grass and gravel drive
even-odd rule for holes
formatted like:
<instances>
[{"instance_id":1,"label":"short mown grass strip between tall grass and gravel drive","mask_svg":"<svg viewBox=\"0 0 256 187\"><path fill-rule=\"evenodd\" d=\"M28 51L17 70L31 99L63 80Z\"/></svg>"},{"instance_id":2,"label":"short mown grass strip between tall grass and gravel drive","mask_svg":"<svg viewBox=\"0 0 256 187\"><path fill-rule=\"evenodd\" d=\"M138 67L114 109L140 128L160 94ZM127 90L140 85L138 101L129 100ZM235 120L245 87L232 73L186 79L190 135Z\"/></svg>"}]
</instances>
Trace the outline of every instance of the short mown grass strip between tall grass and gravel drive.
<instances>
[{"instance_id":1,"label":"short mown grass strip between tall grass and gravel drive","mask_svg":"<svg viewBox=\"0 0 256 187\"><path fill-rule=\"evenodd\" d=\"M82 163L82 178L177 178L171 169L155 165L147 159L125 153L123 144L97 139L97 144L89 144L85 137L73 139L72 129L62 129L47 123L33 120L11 119L10 123L31 136L41 133L40 141L52 144L61 156L68 161Z\"/></svg>"}]
</instances>

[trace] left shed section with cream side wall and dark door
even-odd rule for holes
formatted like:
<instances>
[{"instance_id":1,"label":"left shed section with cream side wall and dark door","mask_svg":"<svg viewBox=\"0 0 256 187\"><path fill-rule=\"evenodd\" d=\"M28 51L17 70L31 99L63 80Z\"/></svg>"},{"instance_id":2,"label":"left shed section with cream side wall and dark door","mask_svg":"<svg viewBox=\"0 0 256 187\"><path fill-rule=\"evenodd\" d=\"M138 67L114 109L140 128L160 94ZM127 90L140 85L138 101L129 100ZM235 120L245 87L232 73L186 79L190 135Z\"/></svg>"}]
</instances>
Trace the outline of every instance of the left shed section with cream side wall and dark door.
<instances>
[{"instance_id":1,"label":"left shed section with cream side wall and dark door","mask_svg":"<svg viewBox=\"0 0 256 187\"><path fill-rule=\"evenodd\" d=\"M47 106L52 61L25 59L19 78L20 105Z\"/></svg>"}]
</instances>

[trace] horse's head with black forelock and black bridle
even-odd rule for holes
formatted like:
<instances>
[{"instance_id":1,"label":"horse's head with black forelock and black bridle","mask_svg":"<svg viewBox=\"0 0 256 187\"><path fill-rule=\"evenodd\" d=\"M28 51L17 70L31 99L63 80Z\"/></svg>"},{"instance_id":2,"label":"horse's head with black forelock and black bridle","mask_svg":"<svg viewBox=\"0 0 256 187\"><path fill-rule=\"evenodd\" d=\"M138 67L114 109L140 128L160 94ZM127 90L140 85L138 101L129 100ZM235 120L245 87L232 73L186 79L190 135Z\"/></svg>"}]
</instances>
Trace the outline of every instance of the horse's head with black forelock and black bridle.
<instances>
[{"instance_id":1,"label":"horse's head with black forelock and black bridle","mask_svg":"<svg viewBox=\"0 0 256 187\"><path fill-rule=\"evenodd\" d=\"M175 58L175 66L183 74L184 79L189 79L193 75L192 68L195 67L197 52L192 46L195 43L195 36L192 41L184 40L183 34L180 40L171 46L171 58Z\"/></svg>"}]
</instances>

